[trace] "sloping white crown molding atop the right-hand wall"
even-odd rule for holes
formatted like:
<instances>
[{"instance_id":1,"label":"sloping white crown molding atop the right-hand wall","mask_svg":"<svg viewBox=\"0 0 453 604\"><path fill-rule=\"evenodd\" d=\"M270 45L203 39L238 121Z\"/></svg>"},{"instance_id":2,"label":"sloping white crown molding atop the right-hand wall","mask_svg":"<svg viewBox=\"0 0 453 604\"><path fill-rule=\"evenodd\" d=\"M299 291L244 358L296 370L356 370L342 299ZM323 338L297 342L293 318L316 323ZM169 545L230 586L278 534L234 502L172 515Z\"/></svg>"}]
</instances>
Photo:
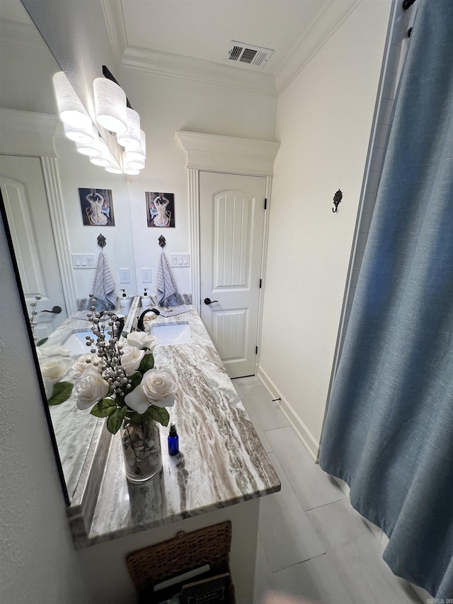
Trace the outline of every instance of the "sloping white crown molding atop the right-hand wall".
<instances>
[{"instance_id":1,"label":"sloping white crown molding atop the right-hand wall","mask_svg":"<svg viewBox=\"0 0 453 604\"><path fill-rule=\"evenodd\" d=\"M277 70L275 74L277 95L280 95L291 84L361 3L362 0L326 1Z\"/></svg>"}]
</instances>

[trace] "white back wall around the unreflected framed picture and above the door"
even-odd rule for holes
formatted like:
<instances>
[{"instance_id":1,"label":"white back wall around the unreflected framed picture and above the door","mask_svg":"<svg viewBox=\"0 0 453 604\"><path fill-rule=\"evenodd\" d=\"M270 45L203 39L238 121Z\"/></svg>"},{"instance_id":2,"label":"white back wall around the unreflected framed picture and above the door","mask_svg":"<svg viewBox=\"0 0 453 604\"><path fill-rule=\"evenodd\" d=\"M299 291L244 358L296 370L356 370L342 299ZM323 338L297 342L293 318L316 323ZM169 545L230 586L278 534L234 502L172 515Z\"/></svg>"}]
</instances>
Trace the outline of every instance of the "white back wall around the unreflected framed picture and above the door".
<instances>
[{"instance_id":1,"label":"white back wall around the unreflected framed picture and above the door","mask_svg":"<svg viewBox=\"0 0 453 604\"><path fill-rule=\"evenodd\" d=\"M151 268L151 292L156 292L156 268L164 234L165 253L189 251L188 173L186 156L175 132L189 130L209 134L273 139L277 99L217 84L204 84L131 69L120 69L118 78L130 103L139 112L147 135L147 164L139 176L129 178L138 292L141 268ZM175 195L176 227L147 227L145 191ZM173 270L178 291L190 292L190 269Z\"/></svg>"}]
</instances>

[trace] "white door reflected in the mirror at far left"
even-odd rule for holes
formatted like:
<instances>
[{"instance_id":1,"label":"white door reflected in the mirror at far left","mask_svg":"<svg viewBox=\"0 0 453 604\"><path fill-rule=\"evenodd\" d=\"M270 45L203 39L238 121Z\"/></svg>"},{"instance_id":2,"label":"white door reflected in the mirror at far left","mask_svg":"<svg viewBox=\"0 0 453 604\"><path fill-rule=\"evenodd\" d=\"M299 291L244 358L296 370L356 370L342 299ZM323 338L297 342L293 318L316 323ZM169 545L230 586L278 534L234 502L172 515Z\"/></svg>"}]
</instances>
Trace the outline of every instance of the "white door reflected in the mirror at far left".
<instances>
[{"instance_id":1,"label":"white door reflected in the mirror at far left","mask_svg":"<svg viewBox=\"0 0 453 604\"><path fill-rule=\"evenodd\" d=\"M40 341L67 319L40 159L0 155L0 188L29 312L42 295L34 331ZM61 312L42 312L54 307Z\"/></svg>"}]
</instances>

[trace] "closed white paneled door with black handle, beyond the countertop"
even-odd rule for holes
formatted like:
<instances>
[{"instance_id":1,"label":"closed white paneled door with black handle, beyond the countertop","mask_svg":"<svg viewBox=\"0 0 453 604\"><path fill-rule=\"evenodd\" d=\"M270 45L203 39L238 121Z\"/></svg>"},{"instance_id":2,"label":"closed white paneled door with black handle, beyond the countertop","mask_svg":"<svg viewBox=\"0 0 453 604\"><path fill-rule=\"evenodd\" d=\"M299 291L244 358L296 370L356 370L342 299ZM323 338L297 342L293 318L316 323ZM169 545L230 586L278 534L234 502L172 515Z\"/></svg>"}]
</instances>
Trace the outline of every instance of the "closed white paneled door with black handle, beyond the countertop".
<instances>
[{"instance_id":1,"label":"closed white paneled door with black handle, beyond the countertop","mask_svg":"<svg viewBox=\"0 0 453 604\"><path fill-rule=\"evenodd\" d=\"M255 374L265 190L200 172L201 318L230 377Z\"/></svg>"}]
</instances>

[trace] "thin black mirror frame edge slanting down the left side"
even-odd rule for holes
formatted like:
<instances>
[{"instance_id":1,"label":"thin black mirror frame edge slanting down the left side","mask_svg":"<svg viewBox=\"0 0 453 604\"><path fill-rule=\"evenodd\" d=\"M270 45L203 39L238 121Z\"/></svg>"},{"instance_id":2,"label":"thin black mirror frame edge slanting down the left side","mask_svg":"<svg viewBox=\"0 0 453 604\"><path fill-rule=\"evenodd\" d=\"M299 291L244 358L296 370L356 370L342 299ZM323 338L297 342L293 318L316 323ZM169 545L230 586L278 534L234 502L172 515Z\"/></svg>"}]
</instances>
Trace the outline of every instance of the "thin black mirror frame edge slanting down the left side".
<instances>
[{"instance_id":1,"label":"thin black mirror frame edge slanting down the left side","mask_svg":"<svg viewBox=\"0 0 453 604\"><path fill-rule=\"evenodd\" d=\"M28 340L30 341L30 350L33 355L33 360L35 363L36 377L38 379L42 406L44 408L45 418L47 421L47 427L49 428L49 435L50 435L50 440L52 443L52 449L54 450L55 462L57 462L59 480L60 480L60 483L62 484L64 501L66 501L66 505L69 506L71 504L71 502L69 501L69 494L68 494L68 490L67 490L67 486L66 486L66 480L64 479L62 460L59 456L57 438L55 437L55 431L54 431L54 427L52 425L52 418L50 417L50 409L49 409L49 405L47 404L47 397L45 395L44 382L42 381L41 372L38 371L38 367L39 367L38 353L36 352L35 341L33 339L33 332L31 331L29 312L28 312L27 304L25 302L25 295L23 293L21 277L19 275L19 268L18 268L18 263L17 263L17 258L16 258L16 252L14 251L14 247L13 247L13 239L11 237L11 230L9 228L8 218L6 217L6 208L4 205L4 199L3 199L3 195L1 194L1 190L0 190L0 214L1 214L1 220L3 221L3 224L4 224L6 241L8 243L9 255L11 257L11 263L13 265L14 276L16 277L16 286L17 286L19 298L21 300L21 307L22 307L22 312L23 312L23 319L24 319L23 322L25 324L25 329L27 330Z\"/></svg>"}]
</instances>

